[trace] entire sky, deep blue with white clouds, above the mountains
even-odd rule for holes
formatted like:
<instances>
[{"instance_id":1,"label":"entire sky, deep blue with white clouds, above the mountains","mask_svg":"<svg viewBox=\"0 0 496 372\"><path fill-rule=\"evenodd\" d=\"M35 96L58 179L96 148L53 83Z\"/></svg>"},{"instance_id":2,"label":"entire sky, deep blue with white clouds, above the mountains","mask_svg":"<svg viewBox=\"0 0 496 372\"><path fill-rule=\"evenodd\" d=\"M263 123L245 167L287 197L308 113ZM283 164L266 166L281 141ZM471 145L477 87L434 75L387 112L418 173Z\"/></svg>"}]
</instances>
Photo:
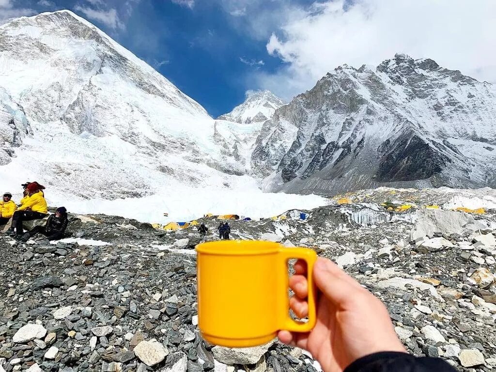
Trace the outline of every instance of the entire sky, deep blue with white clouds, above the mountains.
<instances>
[{"instance_id":1,"label":"entire sky, deep blue with white clouds, above the mountains","mask_svg":"<svg viewBox=\"0 0 496 372\"><path fill-rule=\"evenodd\" d=\"M248 90L286 101L335 67L406 53L496 83L494 0L0 0L0 21L70 9L213 117Z\"/></svg>"}]
</instances>

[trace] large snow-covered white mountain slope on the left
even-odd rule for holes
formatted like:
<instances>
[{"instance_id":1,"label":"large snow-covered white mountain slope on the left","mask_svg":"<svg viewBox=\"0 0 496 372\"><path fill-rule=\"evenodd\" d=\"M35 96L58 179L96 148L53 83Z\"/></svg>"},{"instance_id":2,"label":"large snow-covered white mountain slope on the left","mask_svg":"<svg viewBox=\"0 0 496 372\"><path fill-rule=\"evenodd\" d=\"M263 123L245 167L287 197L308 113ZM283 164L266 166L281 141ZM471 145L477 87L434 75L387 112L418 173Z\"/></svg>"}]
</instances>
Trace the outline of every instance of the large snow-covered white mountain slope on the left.
<instances>
[{"instance_id":1,"label":"large snow-covered white mountain slope on the left","mask_svg":"<svg viewBox=\"0 0 496 372\"><path fill-rule=\"evenodd\" d=\"M0 26L7 184L16 173L91 198L222 186L246 167L213 141L214 126L197 102L68 10Z\"/></svg>"}]
</instances>

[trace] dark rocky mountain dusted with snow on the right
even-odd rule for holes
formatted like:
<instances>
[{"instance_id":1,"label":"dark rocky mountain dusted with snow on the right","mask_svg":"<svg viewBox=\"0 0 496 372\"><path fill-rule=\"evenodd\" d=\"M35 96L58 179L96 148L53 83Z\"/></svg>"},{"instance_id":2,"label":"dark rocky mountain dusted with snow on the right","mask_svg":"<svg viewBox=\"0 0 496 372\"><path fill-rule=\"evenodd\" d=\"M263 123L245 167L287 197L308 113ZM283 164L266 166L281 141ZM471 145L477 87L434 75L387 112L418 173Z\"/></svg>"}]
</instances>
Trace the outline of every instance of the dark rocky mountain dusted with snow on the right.
<instances>
[{"instance_id":1,"label":"dark rocky mountain dusted with snow on the right","mask_svg":"<svg viewBox=\"0 0 496 372\"><path fill-rule=\"evenodd\" d=\"M343 65L277 109L251 155L271 190L496 187L496 89L406 55Z\"/></svg>"}]
</instances>

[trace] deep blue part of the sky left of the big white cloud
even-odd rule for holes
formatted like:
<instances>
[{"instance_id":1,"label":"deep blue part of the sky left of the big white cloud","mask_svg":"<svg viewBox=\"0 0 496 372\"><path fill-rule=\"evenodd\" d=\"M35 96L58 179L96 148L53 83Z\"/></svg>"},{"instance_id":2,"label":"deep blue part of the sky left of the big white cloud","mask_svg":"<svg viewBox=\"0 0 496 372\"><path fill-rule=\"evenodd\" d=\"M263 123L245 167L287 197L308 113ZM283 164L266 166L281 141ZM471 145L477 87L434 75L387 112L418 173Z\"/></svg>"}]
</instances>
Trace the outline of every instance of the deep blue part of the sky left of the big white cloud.
<instances>
[{"instance_id":1,"label":"deep blue part of the sky left of the big white cloud","mask_svg":"<svg viewBox=\"0 0 496 372\"><path fill-rule=\"evenodd\" d=\"M88 19L214 117L243 102L247 90L260 88L252 78L254 73L262 69L272 73L284 64L267 53L266 44L281 20L270 12L277 12L288 3L285 0L246 4L222 0L11 0L12 8L21 3L21 9L70 9ZM259 7L266 13L265 29L253 29L247 20L247 10Z\"/></svg>"}]
</instances>

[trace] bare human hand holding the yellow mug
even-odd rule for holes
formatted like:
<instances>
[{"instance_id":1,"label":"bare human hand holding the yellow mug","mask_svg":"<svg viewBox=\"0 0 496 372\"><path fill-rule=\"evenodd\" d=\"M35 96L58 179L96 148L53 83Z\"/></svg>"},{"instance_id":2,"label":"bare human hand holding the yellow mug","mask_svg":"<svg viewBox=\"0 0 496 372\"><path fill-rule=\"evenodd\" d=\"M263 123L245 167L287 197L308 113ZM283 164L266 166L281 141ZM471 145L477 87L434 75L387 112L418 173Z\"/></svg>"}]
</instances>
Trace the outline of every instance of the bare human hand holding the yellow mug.
<instances>
[{"instance_id":1,"label":"bare human hand holding the yellow mug","mask_svg":"<svg viewBox=\"0 0 496 372\"><path fill-rule=\"evenodd\" d=\"M308 314L307 267L295 264L290 307L301 318ZM406 352L396 336L382 302L330 260L318 257L313 267L317 286L317 319L308 333L281 330L281 342L308 350L324 372L341 372L366 355L381 351Z\"/></svg>"}]
</instances>

